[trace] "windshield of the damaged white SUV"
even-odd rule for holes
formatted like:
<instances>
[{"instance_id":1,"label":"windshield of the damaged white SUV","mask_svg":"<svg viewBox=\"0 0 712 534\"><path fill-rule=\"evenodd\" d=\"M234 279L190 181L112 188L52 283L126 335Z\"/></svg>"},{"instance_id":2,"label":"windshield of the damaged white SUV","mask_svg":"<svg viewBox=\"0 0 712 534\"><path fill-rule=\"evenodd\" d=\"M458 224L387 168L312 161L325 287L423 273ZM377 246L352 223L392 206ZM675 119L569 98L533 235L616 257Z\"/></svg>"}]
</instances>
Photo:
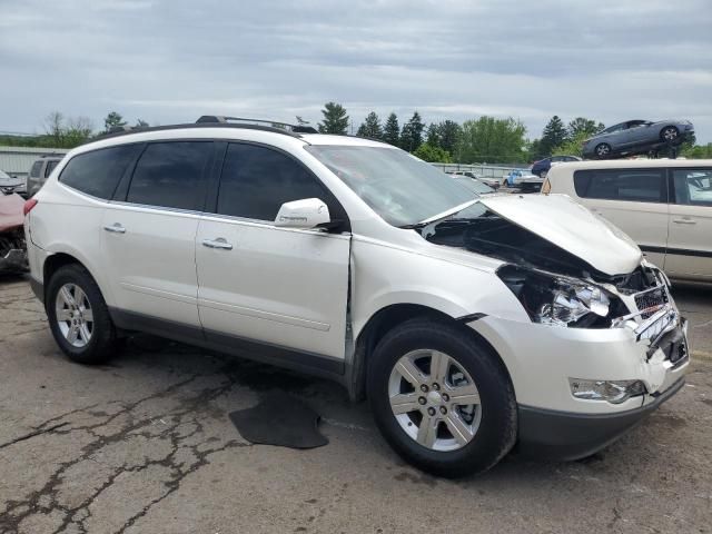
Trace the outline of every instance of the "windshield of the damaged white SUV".
<instances>
[{"instance_id":1,"label":"windshield of the damaged white SUV","mask_svg":"<svg viewBox=\"0 0 712 534\"><path fill-rule=\"evenodd\" d=\"M305 147L384 220L409 226L473 200L451 176L386 147Z\"/></svg>"}]
</instances>

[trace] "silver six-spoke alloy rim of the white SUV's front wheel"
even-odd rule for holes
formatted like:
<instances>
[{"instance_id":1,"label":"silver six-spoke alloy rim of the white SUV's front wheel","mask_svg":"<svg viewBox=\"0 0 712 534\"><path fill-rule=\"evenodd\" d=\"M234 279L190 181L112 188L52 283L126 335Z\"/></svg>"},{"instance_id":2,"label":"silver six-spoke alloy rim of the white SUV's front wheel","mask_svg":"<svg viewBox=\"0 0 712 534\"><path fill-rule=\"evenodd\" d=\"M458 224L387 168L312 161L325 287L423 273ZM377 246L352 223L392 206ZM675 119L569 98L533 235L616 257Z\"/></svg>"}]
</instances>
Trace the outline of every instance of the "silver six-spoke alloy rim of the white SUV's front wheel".
<instances>
[{"instance_id":1,"label":"silver six-spoke alloy rim of the white SUV's front wheel","mask_svg":"<svg viewBox=\"0 0 712 534\"><path fill-rule=\"evenodd\" d=\"M400 357L388 380L390 408L400 428L422 446L457 451L475 437L479 392L455 358L431 349Z\"/></svg>"}]
</instances>

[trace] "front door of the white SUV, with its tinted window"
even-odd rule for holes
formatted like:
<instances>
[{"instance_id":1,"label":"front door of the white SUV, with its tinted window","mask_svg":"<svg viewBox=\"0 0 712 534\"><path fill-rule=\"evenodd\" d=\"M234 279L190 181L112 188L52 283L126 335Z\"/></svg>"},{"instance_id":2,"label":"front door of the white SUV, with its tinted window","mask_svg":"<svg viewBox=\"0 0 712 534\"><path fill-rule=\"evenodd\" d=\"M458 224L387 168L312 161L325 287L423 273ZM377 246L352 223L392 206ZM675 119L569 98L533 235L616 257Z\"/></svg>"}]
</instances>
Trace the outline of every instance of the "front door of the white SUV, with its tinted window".
<instances>
[{"instance_id":1,"label":"front door of the white SUV, with its tinted window","mask_svg":"<svg viewBox=\"0 0 712 534\"><path fill-rule=\"evenodd\" d=\"M281 363L342 365L350 233L274 225L281 204L304 198L320 198L332 218L339 214L330 192L291 156L228 145L212 212L201 217L196 241L198 310L209 342L238 348L259 342Z\"/></svg>"}]
</instances>

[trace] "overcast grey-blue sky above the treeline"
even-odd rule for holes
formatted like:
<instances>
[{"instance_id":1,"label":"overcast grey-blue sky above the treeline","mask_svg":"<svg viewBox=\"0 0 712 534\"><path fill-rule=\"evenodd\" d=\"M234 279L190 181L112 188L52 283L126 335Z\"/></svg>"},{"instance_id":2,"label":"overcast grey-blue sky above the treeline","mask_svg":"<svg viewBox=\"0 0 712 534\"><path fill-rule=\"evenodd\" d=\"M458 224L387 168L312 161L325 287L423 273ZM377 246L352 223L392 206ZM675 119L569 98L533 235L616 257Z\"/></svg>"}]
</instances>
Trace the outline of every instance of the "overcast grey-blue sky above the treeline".
<instances>
[{"instance_id":1,"label":"overcast grey-blue sky above the treeline","mask_svg":"<svg viewBox=\"0 0 712 534\"><path fill-rule=\"evenodd\" d=\"M712 0L0 0L0 131L51 111L151 125L233 115L354 131L553 115L690 119L712 141Z\"/></svg>"}]
</instances>

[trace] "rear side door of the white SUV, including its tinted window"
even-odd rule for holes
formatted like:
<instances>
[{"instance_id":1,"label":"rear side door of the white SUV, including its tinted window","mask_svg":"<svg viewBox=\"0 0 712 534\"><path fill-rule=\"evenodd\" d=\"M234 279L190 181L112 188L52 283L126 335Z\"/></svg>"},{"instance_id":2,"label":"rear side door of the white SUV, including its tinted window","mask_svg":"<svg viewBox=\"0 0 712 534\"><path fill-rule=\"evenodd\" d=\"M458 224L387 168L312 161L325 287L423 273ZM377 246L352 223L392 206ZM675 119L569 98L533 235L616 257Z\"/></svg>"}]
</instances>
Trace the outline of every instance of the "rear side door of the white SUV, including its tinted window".
<instances>
[{"instance_id":1,"label":"rear side door of the white SUV, including its tinted window","mask_svg":"<svg viewBox=\"0 0 712 534\"><path fill-rule=\"evenodd\" d=\"M195 238L212 141L145 146L106 208L102 253L120 312L199 327Z\"/></svg>"}]
</instances>

